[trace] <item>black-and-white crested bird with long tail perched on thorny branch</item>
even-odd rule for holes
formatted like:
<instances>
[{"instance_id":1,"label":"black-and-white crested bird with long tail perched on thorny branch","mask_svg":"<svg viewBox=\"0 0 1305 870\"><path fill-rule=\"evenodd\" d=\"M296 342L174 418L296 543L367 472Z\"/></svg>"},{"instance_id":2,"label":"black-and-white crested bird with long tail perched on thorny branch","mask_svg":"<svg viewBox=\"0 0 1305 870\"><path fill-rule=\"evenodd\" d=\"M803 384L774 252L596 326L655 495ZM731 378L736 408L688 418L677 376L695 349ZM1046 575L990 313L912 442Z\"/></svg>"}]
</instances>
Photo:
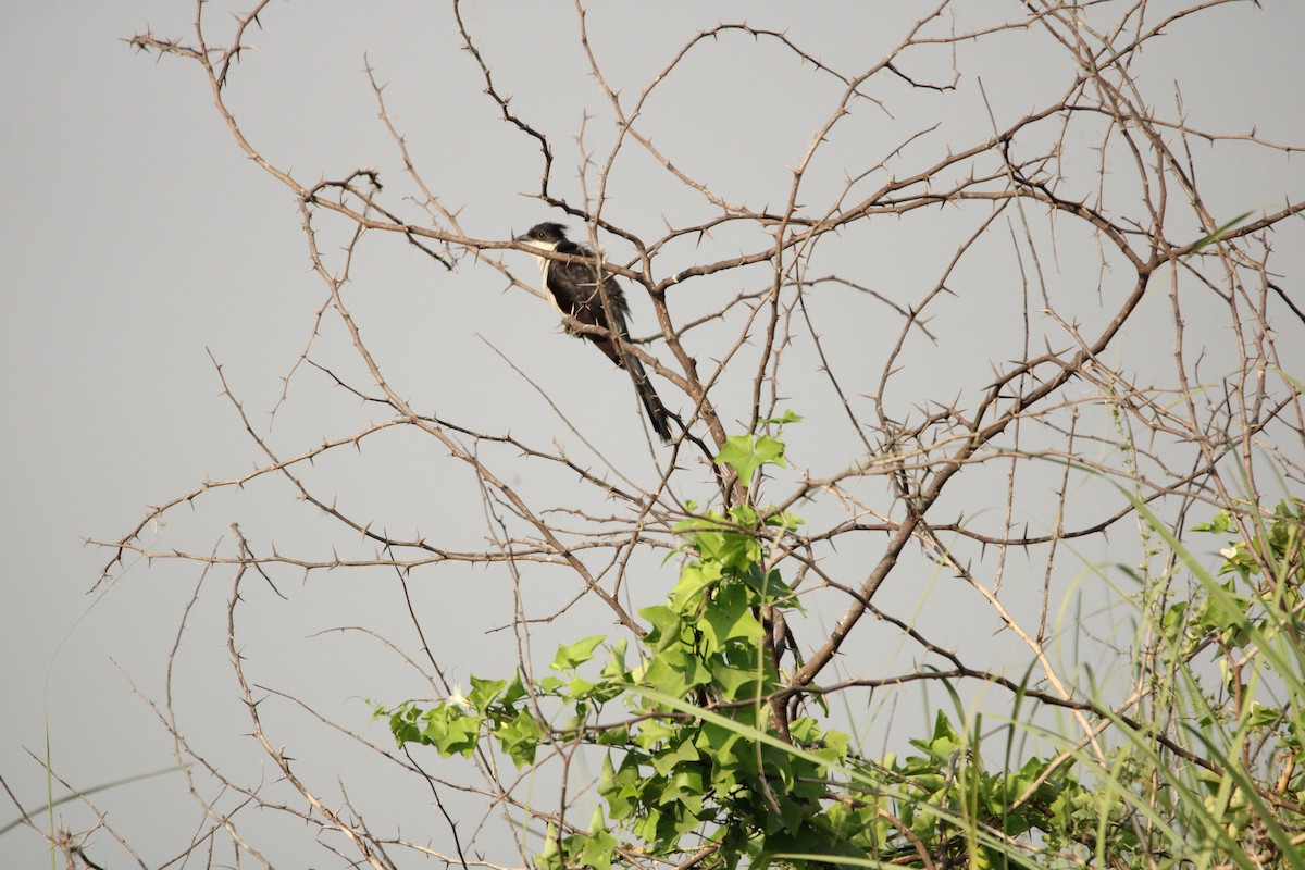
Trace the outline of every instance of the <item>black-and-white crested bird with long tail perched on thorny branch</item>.
<instances>
[{"instance_id":1,"label":"black-and-white crested bird with long tail perched on thorny branch","mask_svg":"<svg viewBox=\"0 0 1305 870\"><path fill-rule=\"evenodd\" d=\"M643 410L647 411L649 423L662 438L663 443L671 442L671 413L662 404L662 398L652 389L643 363L630 353L624 343L629 342L630 331L628 318L630 305L625 301L625 293L612 275L607 275L602 282L599 292L598 256L586 245L572 241L566 237L566 227L560 223L539 223L515 237L515 241L535 248L536 250L552 250L573 257L591 258L594 262L562 262L535 254L539 261L539 271L548 301L553 304L557 313L570 317L585 326L598 326L606 333L578 331L568 327L573 335L587 338L598 350L607 355L616 365L625 369L634 381L634 389L639 394ZM607 301L603 301L603 297ZM608 318L611 314L611 320ZM611 321L615 321L611 322Z\"/></svg>"}]
</instances>

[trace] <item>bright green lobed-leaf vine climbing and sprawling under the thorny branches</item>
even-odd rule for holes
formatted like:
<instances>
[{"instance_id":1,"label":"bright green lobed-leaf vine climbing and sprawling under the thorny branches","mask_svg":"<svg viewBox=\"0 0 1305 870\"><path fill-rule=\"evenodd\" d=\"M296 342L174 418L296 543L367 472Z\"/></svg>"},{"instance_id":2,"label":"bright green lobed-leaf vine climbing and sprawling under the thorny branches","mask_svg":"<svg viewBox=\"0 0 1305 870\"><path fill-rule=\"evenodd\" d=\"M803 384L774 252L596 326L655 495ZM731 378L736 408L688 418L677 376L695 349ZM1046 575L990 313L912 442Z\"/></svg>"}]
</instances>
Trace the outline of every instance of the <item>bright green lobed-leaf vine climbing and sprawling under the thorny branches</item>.
<instances>
[{"instance_id":1,"label":"bright green lobed-leaf vine climbing and sprawling under the thorny branches","mask_svg":"<svg viewBox=\"0 0 1305 870\"><path fill-rule=\"evenodd\" d=\"M783 451L775 438L739 436L718 462L750 496L763 467L784 463ZM792 513L750 505L702 510L681 522L679 582L664 604L638 613L647 627L638 664L629 661L626 639L594 635L560 646L548 676L532 683L519 673L471 677L467 695L376 712L389 719L401 745L432 746L445 757L492 747L523 768L548 746L604 751L596 783L602 806L586 830L549 827L535 856L542 870L608 870L686 856L727 870L775 862L795 869L1082 866L1096 858L1135 866L1142 856L1163 853L1135 823L1146 811L1139 784L1163 764L1144 749L1146 734L1129 732L1143 746L1141 755L1118 747L1104 767L1071 753L1067 763L1032 757L989 771L984 742L1005 743L993 755L1009 757L1015 729L1031 727L1007 723L997 740L984 736L980 719L960 732L940 710L932 733L911 740L915 751L904 758L855 753L850 734L823 721L818 689L787 685L767 650L766 614L800 609L774 562L776 545L801 523ZM1205 528L1224 532L1229 523L1216 518ZM1246 548L1258 544L1224 550L1223 570L1235 575L1229 584L1248 582L1257 563ZM1279 612L1295 614L1298 509L1270 526L1268 545L1295 560L1293 591L1279 588L1272 597ZM1278 618L1249 622L1251 597L1229 584L1223 596L1169 609L1165 630L1186 655L1215 635L1236 646L1283 626ZM1266 607L1267 595L1258 592ZM801 715L790 720L790 710ZM545 720L540 711L555 715ZM1257 708L1251 723L1282 728L1284 745L1298 749L1298 723L1285 711ZM1245 792L1240 805L1225 801L1205 818L1223 824L1211 833L1218 845L1210 854L1237 848L1227 822L1250 819L1254 805ZM1201 819L1193 823L1201 826Z\"/></svg>"}]
</instances>

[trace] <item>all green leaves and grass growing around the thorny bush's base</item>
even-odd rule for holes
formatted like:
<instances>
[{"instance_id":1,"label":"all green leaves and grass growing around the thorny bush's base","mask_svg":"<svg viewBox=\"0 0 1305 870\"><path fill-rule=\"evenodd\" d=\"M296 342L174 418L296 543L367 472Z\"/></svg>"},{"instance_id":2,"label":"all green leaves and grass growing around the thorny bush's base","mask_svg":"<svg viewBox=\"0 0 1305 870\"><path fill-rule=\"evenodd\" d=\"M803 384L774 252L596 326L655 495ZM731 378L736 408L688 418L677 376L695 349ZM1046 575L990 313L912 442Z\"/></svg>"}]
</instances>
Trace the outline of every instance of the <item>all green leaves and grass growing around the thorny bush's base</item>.
<instances>
[{"instance_id":1,"label":"all green leaves and grass growing around the thorny bush's base","mask_svg":"<svg viewBox=\"0 0 1305 870\"><path fill-rule=\"evenodd\" d=\"M749 485L763 466L783 463L783 447L736 437L718 462ZM799 608L774 561L800 523L750 505L681 522L680 578L663 604L639 612L638 664L625 639L594 635L559 647L551 673L532 682L472 677L467 697L377 713L399 743L445 757L496 749L523 768L548 746L602 750L602 807L585 830L548 830L535 857L543 870L675 863L699 849L703 866L726 869L1249 867L1265 863L1251 854L1267 863L1297 854L1300 819L1285 819L1284 807L1305 802L1295 772L1305 734L1300 502L1221 550L1227 579L1191 560L1205 579L1163 610L1156 695L1181 708L1186 730L1160 743L1158 720L1096 711L1120 740L1095 758L1066 746L1009 760L1031 724L1013 719L985 737L981 720L959 730L941 710L904 758L853 753L850 734L813 715L825 710L820 690L790 685L767 647L774 614ZM1220 514L1201 531L1233 527ZM1214 691L1194 669L1203 651L1220 656ZM1255 700L1251 683L1270 682L1279 702ZM1271 746L1258 770L1240 763L1251 743ZM992 770L987 758L1007 762Z\"/></svg>"}]
</instances>

